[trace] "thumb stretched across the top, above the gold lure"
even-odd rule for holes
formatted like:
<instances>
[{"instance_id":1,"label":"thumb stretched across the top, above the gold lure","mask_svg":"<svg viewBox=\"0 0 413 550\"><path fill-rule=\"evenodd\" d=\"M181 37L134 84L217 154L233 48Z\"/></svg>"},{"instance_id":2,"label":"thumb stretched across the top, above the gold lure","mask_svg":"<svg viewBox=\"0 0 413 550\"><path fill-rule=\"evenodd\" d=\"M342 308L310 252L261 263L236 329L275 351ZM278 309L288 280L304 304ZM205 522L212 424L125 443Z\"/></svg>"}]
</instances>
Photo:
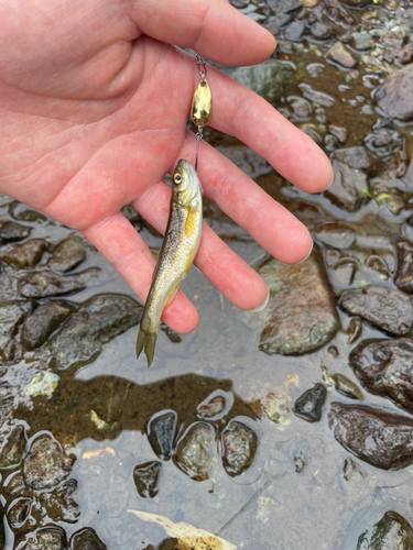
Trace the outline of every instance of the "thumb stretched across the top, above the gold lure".
<instances>
[{"instance_id":1,"label":"thumb stretched across the top, above the gold lure","mask_svg":"<svg viewBox=\"0 0 413 550\"><path fill-rule=\"evenodd\" d=\"M265 29L225 0L135 0L132 18L148 36L224 65L254 65L275 48Z\"/></svg>"}]
</instances>

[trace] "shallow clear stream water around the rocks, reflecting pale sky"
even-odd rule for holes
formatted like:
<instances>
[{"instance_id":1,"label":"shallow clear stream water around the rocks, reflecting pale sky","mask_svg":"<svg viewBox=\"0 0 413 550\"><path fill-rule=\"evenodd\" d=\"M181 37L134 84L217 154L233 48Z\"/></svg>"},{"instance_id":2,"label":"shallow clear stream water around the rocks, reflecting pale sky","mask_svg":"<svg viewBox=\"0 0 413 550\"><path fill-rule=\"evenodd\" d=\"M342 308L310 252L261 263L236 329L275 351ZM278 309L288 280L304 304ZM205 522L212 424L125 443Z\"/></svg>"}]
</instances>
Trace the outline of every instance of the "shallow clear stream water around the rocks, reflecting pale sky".
<instances>
[{"instance_id":1,"label":"shallow clear stream water around the rocks, reflecting pale sky","mask_svg":"<svg viewBox=\"0 0 413 550\"><path fill-rule=\"evenodd\" d=\"M268 3L238 2L237 7L270 28L280 43L274 58L283 65L287 77L273 102L281 112L327 152L366 145L380 160L381 167L368 175L370 187L360 196L361 199L365 196L365 200L351 209L334 197L309 197L283 182L265 162L232 139L211 130L207 130L206 139L314 232L316 249L337 301L348 288L368 284L395 288L395 243L402 235L413 242L410 211L413 187L409 188L409 182L403 179L411 161L411 127L409 122L385 117L371 98L374 87L401 68L394 51L402 47L413 51L410 36L413 11L409 3L402 2L363 2L357 9L339 4L354 19L344 25L343 21L337 23L326 15L323 10L327 3L330 4L324 0L314 8L305 8L300 2L269 0ZM323 38L312 34L316 22L326 26ZM297 29L291 29L292 24ZM345 35L350 36L360 29L369 34L373 44L363 52L348 46L358 59L354 67L346 68L329 58L327 51L334 43L341 38L347 44ZM271 81L265 86L271 88ZM315 97L311 90L323 91L330 100ZM332 125L345 129L347 138L340 142L334 129L332 133ZM391 174L392 169L393 174L399 169L399 177L392 176L391 185L376 188L371 180L384 173ZM359 170L355 168L355 172ZM29 210L2 198L0 219L32 228L30 239L45 239L56 244L70 234L66 228L45 218L29 215L19 215L19 218L17 211ZM206 206L205 216L248 263L258 267L267 258L264 251L213 205ZM345 222L345 227L358 235L358 244L343 245L337 240L328 243L322 228L328 222ZM139 220L135 223L146 242L159 249L161 237L151 228L141 227ZM338 239L337 232L335 235L334 239ZM3 250L13 245L6 244ZM65 299L81 304L102 294L133 298L128 285L91 248L74 273L88 267L100 271L85 289L64 296ZM3 273L14 273L10 267L4 270ZM52 548L28 542L31 532L34 537L40 528L51 524L59 525L67 540L83 528L91 528L109 549L184 548L175 546L176 540L162 527L140 520L128 512L130 509L157 514L174 522L185 521L244 549L365 548L358 547L360 536L371 530L388 510L399 513L413 525L413 465L389 471L376 468L344 449L328 427L330 403L354 404L352 399L328 386L320 421L309 424L293 413L297 397L324 382L324 365L330 374L344 374L361 387L366 404L407 416L391 400L363 389L349 367L348 355L356 345L348 343L350 316L337 308L339 330L312 353L270 355L259 348L267 322L264 314L248 315L238 310L196 268L191 271L183 290L198 309L199 327L194 333L178 338L161 331L151 369L146 369L142 358L139 362L135 360L135 324L107 343L104 339L96 359L94 355L90 361L75 362L67 369L53 366L46 352L42 355L44 346L41 351L17 352L4 361L0 387L0 400L4 404L1 432L6 441L12 427L23 426L26 438L22 461L1 470L4 548ZM369 338L385 338L385 333L362 321L361 339ZM43 395L35 395L30 382L45 372L58 377L57 386L48 394L42 386L40 394ZM219 395L226 403L222 415L203 418L199 405L208 402L209 396ZM264 411L265 399L273 406L272 414ZM203 472L207 471L200 481L178 468L176 457L160 459L150 442L150 420L171 411L176 422L171 443L175 454L180 448L177 441L185 438L194 422L213 427L209 454L194 459L207 462L199 466ZM258 441L252 463L239 475L231 474L222 462L222 430L235 420L252 430ZM65 454L74 454L75 460L70 471L62 474L55 484L28 488L26 453L42 433L53 435ZM185 452L196 454L194 446ZM46 463L45 458L44 461ZM161 473L154 494L142 496L133 471L137 465L151 461L160 462ZM40 468L39 464L35 468ZM15 483L18 488L13 493L12 480L22 470L25 488L19 490ZM61 507L51 504L47 498L67 480L77 482L72 493L77 507L69 499L61 503ZM13 516L13 506L21 498L30 502L30 506L20 516ZM93 544L87 548L104 548L96 540ZM75 542L72 546L78 548Z\"/></svg>"}]
</instances>

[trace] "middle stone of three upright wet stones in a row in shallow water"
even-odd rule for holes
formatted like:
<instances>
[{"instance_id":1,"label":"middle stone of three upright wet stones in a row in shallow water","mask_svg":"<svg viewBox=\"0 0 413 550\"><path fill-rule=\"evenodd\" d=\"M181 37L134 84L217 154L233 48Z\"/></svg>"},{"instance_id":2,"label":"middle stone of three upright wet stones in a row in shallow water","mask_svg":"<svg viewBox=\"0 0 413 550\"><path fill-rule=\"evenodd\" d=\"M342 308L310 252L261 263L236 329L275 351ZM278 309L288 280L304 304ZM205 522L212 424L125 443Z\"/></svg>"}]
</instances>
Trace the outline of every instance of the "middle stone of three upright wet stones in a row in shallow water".
<instances>
[{"instance_id":1,"label":"middle stone of three upright wet stones in a row in shallow water","mask_svg":"<svg viewBox=\"0 0 413 550\"><path fill-rule=\"evenodd\" d=\"M214 468L214 427L206 422L195 422L176 446L173 461L193 480L208 480Z\"/></svg>"}]
</instances>

